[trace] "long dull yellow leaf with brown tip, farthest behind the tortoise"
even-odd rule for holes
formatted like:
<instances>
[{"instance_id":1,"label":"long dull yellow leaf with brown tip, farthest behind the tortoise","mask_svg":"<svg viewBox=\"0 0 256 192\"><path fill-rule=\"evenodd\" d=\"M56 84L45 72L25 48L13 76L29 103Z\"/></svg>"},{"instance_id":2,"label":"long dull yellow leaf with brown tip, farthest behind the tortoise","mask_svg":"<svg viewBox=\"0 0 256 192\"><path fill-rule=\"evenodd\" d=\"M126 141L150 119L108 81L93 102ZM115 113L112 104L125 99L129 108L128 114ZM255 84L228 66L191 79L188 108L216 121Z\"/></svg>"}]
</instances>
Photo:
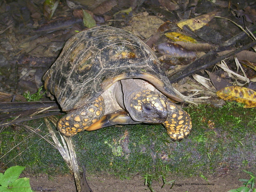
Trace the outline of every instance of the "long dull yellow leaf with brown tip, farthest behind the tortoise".
<instances>
[{"instance_id":1,"label":"long dull yellow leaf with brown tip, farthest behind the tortoise","mask_svg":"<svg viewBox=\"0 0 256 192\"><path fill-rule=\"evenodd\" d=\"M204 15L200 15L200 16L192 18L192 19L180 21L177 23L177 26L182 29L184 25L188 25L192 31L195 31L195 30L200 29L201 27L205 26L210 20L212 20L212 18L214 18L216 13L217 13L216 11L213 11L213 12L210 12L210 13L207 13Z\"/></svg>"}]
</instances>

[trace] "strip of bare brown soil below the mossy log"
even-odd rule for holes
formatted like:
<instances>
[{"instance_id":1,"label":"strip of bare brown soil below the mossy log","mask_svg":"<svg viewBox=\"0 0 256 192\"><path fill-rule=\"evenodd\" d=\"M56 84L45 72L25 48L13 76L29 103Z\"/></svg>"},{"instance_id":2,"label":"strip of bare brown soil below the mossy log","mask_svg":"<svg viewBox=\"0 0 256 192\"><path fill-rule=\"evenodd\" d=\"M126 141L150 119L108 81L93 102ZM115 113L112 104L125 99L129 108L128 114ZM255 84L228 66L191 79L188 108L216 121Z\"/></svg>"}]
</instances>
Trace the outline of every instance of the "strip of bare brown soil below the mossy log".
<instances>
[{"instance_id":1,"label":"strip of bare brown soil below the mossy log","mask_svg":"<svg viewBox=\"0 0 256 192\"><path fill-rule=\"evenodd\" d=\"M175 174L166 178L166 182L175 179L175 183L163 186L162 179L159 181L153 181L151 187L154 191L228 191L230 189L237 189L243 186L243 182L238 179L248 179L248 174L235 170L234 172L218 172L215 175L209 175L206 179L200 176L182 177ZM38 176L30 176L26 174L26 177L30 177L30 185L34 191L69 191L75 192L75 183L73 175L58 175L50 177L46 174L40 174ZM119 179L113 175L87 175L87 182L90 185L92 191L145 191L148 187L144 185L145 180L143 177L137 175L131 179ZM172 187L172 185L174 185ZM163 187L162 187L163 186ZM172 187L172 188L171 188ZM148 189L147 191L150 191Z\"/></svg>"}]
</instances>

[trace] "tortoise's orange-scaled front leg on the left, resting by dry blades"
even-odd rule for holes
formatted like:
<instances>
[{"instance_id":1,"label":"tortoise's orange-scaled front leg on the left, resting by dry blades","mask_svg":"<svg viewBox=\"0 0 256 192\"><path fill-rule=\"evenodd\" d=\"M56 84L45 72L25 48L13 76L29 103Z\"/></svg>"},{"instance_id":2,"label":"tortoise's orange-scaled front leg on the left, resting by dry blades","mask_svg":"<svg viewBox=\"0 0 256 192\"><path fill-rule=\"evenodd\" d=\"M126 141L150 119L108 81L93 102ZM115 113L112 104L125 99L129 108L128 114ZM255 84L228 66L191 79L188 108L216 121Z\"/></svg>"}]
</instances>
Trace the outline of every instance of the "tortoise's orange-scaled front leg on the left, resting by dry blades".
<instances>
[{"instance_id":1,"label":"tortoise's orange-scaled front leg on the left, resting by dry blades","mask_svg":"<svg viewBox=\"0 0 256 192\"><path fill-rule=\"evenodd\" d=\"M67 113L59 119L57 129L66 137L72 137L101 119L104 115L104 109L104 99L102 96L98 96L88 104L71 113Z\"/></svg>"}]
</instances>

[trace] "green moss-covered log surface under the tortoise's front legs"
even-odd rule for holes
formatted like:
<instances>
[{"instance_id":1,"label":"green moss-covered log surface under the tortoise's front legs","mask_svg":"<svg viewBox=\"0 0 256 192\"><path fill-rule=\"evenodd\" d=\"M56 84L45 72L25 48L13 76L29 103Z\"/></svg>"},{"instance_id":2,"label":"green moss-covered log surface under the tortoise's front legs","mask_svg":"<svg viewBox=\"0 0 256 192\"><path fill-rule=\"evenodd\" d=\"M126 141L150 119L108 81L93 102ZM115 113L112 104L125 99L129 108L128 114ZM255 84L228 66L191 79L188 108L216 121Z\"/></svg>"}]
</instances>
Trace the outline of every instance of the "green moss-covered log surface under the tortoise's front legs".
<instances>
[{"instance_id":1,"label":"green moss-covered log surface under the tortoise's front legs","mask_svg":"<svg viewBox=\"0 0 256 192\"><path fill-rule=\"evenodd\" d=\"M200 105L187 111L193 130L180 143L172 142L162 125L112 126L77 134L73 141L80 165L91 173L104 171L121 178L139 173L151 175L149 179L164 179L170 172L190 176L213 173L218 168L255 167L255 109L228 104L222 108ZM2 155L29 136L24 129L13 128L0 134ZM48 133L44 124L40 131ZM8 166L22 165L34 172L67 172L59 152L32 135L2 162L11 160Z\"/></svg>"}]
</instances>

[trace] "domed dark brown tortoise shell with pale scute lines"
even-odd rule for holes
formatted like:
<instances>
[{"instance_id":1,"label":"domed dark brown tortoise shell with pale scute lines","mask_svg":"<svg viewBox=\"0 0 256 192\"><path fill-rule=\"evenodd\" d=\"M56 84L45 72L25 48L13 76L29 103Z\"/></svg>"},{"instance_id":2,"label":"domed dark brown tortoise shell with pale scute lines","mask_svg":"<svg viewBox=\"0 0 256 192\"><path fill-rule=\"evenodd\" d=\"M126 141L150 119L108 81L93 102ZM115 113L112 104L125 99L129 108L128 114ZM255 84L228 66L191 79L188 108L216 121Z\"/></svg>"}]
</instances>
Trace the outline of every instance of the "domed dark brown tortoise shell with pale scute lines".
<instances>
[{"instance_id":1,"label":"domed dark brown tortoise shell with pale scute lines","mask_svg":"<svg viewBox=\"0 0 256 192\"><path fill-rule=\"evenodd\" d=\"M116 81L129 78L146 80L169 98L182 101L155 53L137 36L110 26L71 37L43 77L63 111L75 110Z\"/></svg>"}]
</instances>

